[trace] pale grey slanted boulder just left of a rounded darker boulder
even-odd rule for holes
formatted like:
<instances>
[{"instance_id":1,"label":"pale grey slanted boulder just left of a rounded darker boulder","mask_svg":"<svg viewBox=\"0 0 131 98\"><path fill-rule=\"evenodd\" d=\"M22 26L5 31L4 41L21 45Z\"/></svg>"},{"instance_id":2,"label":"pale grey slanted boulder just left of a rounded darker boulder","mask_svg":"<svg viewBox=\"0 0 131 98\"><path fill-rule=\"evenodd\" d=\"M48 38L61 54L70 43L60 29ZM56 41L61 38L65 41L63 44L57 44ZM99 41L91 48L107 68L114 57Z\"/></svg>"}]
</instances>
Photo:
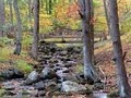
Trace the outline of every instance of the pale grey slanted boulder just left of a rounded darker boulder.
<instances>
[{"instance_id":1,"label":"pale grey slanted boulder just left of a rounded darker boulder","mask_svg":"<svg viewBox=\"0 0 131 98\"><path fill-rule=\"evenodd\" d=\"M31 85L33 83L36 83L38 79L39 79L38 73L36 71L33 71L26 78L25 84Z\"/></svg>"}]
</instances>

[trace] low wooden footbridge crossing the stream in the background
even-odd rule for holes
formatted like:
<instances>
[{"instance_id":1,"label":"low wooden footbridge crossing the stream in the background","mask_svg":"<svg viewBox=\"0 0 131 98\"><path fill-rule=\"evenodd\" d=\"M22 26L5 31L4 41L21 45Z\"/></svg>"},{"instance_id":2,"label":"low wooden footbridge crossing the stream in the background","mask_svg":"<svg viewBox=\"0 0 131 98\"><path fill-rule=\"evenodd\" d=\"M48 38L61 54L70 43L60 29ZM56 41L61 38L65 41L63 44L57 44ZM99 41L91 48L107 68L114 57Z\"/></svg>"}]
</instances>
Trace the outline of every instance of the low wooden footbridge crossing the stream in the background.
<instances>
[{"instance_id":1,"label":"low wooden footbridge crossing the stream in the background","mask_svg":"<svg viewBox=\"0 0 131 98\"><path fill-rule=\"evenodd\" d=\"M95 34L95 38L97 37L98 40L102 40L103 34L97 33ZM82 44L83 35L81 29L74 30L74 29L63 29L62 32L55 32L55 33L48 33L48 34L40 34L39 39L47 41L47 42L53 42L53 44Z\"/></svg>"}]
</instances>

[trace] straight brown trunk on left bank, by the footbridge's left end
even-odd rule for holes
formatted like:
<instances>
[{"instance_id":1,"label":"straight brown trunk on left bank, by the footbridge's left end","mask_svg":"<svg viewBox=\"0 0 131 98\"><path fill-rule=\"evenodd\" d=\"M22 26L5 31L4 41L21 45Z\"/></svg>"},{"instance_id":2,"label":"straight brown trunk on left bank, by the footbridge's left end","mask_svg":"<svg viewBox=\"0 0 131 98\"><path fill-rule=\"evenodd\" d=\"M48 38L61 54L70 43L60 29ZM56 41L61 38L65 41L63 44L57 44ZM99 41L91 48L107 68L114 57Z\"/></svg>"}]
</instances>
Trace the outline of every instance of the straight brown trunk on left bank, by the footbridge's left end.
<instances>
[{"instance_id":1,"label":"straight brown trunk on left bank, by the footbridge's left end","mask_svg":"<svg viewBox=\"0 0 131 98\"><path fill-rule=\"evenodd\" d=\"M32 57L37 60L38 54L38 34L39 34L39 0L34 0L34 32Z\"/></svg>"}]
</instances>

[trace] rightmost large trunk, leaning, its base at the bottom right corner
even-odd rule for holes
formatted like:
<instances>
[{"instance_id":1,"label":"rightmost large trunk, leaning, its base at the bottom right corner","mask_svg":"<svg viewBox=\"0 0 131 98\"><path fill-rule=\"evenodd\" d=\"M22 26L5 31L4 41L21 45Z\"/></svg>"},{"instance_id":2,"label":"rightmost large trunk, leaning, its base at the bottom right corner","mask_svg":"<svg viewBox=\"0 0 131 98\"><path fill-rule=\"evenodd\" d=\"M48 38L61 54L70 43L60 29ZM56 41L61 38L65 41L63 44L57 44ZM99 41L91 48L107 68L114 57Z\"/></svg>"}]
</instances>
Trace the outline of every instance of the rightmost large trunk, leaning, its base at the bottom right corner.
<instances>
[{"instance_id":1,"label":"rightmost large trunk, leaning, its base at the bottom right corner","mask_svg":"<svg viewBox=\"0 0 131 98\"><path fill-rule=\"evenodd\" d=\"M108 0L108 5L109 5L108 12L109 12L109 23L110 23L109 29L114 46L119 93L121 98L131 98L131 89L128 83L127 71L122 57L117 0Z\"/></svg>"}]
</instances>

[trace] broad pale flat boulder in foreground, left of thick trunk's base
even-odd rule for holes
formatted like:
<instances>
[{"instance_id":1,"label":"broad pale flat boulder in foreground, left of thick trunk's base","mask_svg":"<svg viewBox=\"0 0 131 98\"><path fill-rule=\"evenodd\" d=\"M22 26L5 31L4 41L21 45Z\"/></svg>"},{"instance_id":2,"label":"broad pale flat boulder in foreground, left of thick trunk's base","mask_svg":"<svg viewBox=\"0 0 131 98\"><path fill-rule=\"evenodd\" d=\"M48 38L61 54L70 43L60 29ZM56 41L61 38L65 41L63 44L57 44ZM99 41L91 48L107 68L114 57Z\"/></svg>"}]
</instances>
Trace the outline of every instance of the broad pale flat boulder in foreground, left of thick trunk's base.
<instances>
[{"instance_id":1,"label":"broad pale flat boulder in foreground, left of thick trunk's base","mask_svg":"<svg viewBox=\"0 0 131 98\"><path fill-rule=\"evenodd\" d=\"M66 81L62 82L61 90L66 93L78 93L78 91L86 90L86 87L75 82Z\"/></svg>"}]
</instances>

